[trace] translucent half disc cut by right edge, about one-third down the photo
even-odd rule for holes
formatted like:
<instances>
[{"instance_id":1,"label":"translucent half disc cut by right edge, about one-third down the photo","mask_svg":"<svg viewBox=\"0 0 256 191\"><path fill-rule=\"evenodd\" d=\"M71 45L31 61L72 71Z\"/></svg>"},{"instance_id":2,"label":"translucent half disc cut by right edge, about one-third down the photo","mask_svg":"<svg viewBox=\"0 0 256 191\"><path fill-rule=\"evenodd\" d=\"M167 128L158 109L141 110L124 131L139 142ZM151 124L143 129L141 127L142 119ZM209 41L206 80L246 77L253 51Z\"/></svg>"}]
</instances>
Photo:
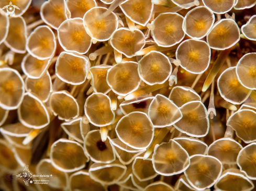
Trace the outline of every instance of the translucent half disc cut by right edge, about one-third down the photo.
<instances>
[{"instance_id":1,"label":"translucent half disc cut by right edge, about one-third down the photo","mask_svg":"<svg viewBox=\"0 0 256 191\"><path fill-rule=\"evenodd\" d=\"M237 63L236 73L239 82L248 89L256 89L256 53L243 55Z\"/></svg>"}]
</instances>

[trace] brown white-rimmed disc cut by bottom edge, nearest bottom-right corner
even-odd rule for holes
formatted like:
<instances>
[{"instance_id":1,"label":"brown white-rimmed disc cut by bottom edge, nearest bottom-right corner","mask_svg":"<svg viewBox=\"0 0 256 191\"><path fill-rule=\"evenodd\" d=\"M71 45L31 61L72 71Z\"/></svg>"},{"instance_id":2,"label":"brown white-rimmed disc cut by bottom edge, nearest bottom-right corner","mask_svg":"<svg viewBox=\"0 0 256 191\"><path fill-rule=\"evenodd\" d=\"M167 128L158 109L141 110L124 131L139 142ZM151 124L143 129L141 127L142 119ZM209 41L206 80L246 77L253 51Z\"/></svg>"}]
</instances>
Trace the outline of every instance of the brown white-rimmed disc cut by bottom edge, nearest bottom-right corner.
<instances>
[{"instance_id":1,"label":"brown white-rimmed disc cut by bottom edge, nearest bottom-right corner","mask_svg":"<svg viewBox=\"0 0 256 191\"><path fill-rule=\"evenodd\" d=\"M215 189L227 191L246 191L253 189L252 181L238 169L228 169L222 172L214 185Z\"/></svg>"}]
</instances>

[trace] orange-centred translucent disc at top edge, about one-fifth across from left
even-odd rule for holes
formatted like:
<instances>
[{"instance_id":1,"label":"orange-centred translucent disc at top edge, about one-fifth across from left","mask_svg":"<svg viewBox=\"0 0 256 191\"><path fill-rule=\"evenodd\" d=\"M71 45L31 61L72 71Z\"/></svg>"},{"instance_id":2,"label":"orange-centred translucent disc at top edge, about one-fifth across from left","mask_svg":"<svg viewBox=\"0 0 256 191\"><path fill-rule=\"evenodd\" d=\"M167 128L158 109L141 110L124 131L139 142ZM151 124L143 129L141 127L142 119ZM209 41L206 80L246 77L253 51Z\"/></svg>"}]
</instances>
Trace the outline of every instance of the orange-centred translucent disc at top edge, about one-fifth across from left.
<instances>
[{"instance_id":1,"label":"orange-centred translucent disc at top edge, about one-fifth across from left","mask_svg":"<svg viewBox=\"0 0 256 191\"><path fill-rule=\"evenodd\" d=\"M57 30L64 20L70 18L70 13L65 0L48 0L42 4L40 16L47 25Z\"/></svg>"}]
</instances>

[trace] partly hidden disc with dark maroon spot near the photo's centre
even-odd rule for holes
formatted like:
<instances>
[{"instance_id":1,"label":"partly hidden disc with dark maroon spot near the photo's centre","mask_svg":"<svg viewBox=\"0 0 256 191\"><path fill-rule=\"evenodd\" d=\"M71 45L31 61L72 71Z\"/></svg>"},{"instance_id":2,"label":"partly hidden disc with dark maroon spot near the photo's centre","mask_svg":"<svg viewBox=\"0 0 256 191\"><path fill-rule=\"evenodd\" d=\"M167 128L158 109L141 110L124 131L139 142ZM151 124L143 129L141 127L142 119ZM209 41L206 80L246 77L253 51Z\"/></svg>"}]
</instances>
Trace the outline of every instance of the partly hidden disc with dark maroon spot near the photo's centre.
<instances>
[{"instance_id":1,"label":"partly hidden disc with dark maroon spot near the photo's centre","mask_svg":"<svg viewBox=\"0 0 256 191\"><path fill-rule=\"evenodd\" d=\"M121 102L119 107L121 109L121 112L124 113L125 115L135 111L139 111L147 114L149 105L153 99L154 97L150 95L144 95L132 100L123 101Z\"/></svg>"}]
</instances>

